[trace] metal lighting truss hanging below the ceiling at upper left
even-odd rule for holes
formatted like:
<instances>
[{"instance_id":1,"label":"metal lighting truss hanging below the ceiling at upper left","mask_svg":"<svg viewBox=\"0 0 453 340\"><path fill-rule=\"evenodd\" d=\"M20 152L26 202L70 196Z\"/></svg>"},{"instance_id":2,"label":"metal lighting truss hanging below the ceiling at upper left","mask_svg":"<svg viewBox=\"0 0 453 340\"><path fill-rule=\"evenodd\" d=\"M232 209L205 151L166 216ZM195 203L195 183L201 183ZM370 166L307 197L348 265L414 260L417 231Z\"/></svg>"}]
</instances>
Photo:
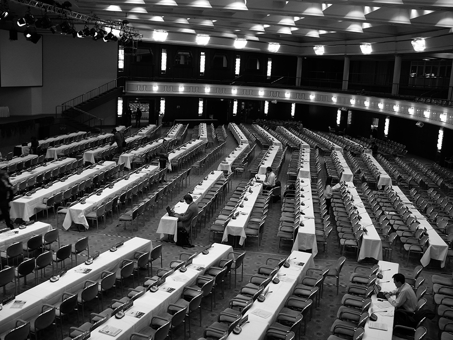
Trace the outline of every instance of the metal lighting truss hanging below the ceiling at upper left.
<instances>
[{"instance_id":1,"label":"metal lighting truss hanging below the ceiling at upper left","mask_svg":"<svg viewBox=\"0 0 453 340\"><path fill-rule=\"evenodd\" d=\"M143 34L140 34L137 29L133 27L126 26L121 23L121 21L109 21L103 20L98 17L90 17L85 14L73 12L67 9L58 8L47 3L39 2L39 1L32 1L32 0L9 0L10 2L15 2L20 5L30 6L34 8L39 8L41 10L45 10L47 12L59 14L65 18L73 19L74 21L79 21L81 23L91 23L97 24L99 26L107 26L114 30L121 31L122 34L129 35L131 38L142 38Z\"/></svg>"}]
</instances>

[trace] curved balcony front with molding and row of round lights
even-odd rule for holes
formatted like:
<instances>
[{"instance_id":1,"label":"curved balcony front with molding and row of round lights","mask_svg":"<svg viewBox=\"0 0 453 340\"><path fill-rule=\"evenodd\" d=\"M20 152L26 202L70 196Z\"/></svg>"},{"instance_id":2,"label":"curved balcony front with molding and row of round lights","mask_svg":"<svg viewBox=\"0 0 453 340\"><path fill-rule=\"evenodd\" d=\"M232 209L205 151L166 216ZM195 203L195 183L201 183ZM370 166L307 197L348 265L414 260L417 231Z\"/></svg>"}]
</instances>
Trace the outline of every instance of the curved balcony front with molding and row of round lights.
<instances>
[{"instance_id":1,"label":"curved balcony front with molding and row of round lights","mask_svg":"<svg viewBox=\"0 0 453 340\"><path fill-rule=\"evenodd\" d=\"M338 108L345 107L352 110L371 111L387 116L422 121L453 130L453 108L358 94L255 86L136 81L126 82L125 94L154 97L190 96L262 101L277 100Z\"/></svg>"}]
</instances>

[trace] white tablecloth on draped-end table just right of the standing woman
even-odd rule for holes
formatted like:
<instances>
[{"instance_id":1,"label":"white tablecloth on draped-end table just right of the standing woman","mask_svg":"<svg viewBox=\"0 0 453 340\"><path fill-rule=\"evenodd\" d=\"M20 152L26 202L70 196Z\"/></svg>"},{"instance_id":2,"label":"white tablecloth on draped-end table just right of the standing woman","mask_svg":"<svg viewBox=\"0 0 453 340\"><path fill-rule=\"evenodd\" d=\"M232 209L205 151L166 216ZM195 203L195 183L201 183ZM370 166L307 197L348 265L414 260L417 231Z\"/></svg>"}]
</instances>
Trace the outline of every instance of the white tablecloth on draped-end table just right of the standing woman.
<instances>
[{"instance_id":1,"label":"white tablecloth on draped-end table just right of the standing woman","mask_svg":"<svg viewBox=\"0 0 453 340\"><path fill-rule=\"evenodd\" d=\"M380 261L382 260L381 238L374 228L373 222L371 221L354 184L352 182L347 182L346 184L348 185L348 190L352 194L352 204L357 207L357 211L362 218L360 220L360 225L367 230L367 232L363 233L362 246L360 247L358 260L361 261L366 257L372 257Z\"/></svg>"}]
</instances>

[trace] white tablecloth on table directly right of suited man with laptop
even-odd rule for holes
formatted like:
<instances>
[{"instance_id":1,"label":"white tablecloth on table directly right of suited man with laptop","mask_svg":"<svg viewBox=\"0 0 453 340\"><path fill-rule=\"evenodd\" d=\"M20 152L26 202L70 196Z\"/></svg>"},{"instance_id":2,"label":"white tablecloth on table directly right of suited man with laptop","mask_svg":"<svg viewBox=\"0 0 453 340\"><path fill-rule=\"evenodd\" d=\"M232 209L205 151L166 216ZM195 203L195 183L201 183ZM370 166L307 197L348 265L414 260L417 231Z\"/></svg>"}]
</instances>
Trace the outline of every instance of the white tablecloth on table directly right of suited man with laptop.
<instances>
[{"instance_id":1,"label":"white tablecloth on table directly right of suited man with laptop","mask_svg":"<svg viewBox=\"0 0 453 340\"><path fill-rule=\"evenodd\" d=\"M254 182L250 189L252 190L252 192L249 192L247 190L248 192L244 196L244 198L247 198L247 201L242 201L243 207L238 206L235 210L235 213L239 214L235 216L235 219L231 219L230 222L228 222L223 232L222 242L228 240L228 235L235 235L240 236L239 244L244 244L244 240L247 238L244 229L250 220L250 213L253 210L253 206L255 205L258 195L263 189L263 184Z\"/></svg>"}]
</instances>

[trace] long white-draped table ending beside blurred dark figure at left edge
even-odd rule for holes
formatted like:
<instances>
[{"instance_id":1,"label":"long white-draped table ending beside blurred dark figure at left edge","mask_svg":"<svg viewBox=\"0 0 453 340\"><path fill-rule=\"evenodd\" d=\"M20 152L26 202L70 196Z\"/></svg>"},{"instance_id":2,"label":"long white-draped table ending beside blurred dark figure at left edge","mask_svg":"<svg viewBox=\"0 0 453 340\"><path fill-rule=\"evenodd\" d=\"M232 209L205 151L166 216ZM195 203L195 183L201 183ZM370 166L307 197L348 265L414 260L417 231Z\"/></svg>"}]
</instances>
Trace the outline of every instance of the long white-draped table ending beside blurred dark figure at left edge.
<instances>
[{"instance_id":1,"label":"long white-draped table ending beside blurred dark figure at left edge","mask_svg":"<svg viewBox=\"0 0 453 340\"><path fill-rule=\"evenodd\" d=\"M10 216L12 219L21 218L24 221L30 221L30 217L35 214L36 205L42 204L44 198L49 198L61 191L73 187L88 177L109 170L110 168L115 167L115 165L115 162L104 162L102 165L97 164L93 168L83 170L80 174L75 173L64 181L56 182L50 187L38 189L30 196L22 196L11 202Z\"/></svg>"}]
</instances>

